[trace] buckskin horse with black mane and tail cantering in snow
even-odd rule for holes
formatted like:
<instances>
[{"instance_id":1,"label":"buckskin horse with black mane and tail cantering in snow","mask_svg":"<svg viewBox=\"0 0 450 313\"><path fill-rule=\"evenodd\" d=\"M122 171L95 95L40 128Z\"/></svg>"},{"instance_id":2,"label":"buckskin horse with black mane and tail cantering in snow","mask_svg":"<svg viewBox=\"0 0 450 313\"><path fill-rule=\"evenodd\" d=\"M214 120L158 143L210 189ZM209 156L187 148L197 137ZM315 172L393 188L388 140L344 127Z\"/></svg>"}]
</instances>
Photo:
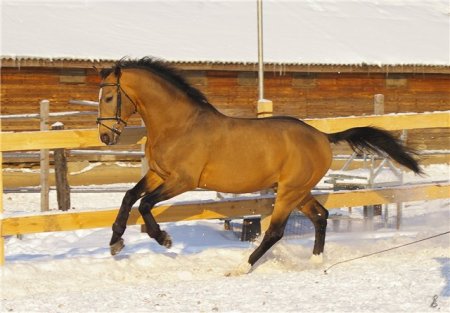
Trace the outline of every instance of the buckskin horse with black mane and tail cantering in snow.
<instances>
[{"instance_id":1,"label":"buckskin horse with black mane and tail cantering in snow","mask_svg":"<svg viewBox=\"0 0 450 313\"><path fill-rule=\"evenodd\" d=\"M355 151L388 155L422 173L415 152L386 130L355 127L327 134L293 117L236 118L220 113L198 89L161 59L121 59L100 71L98 130L100 140L114 145L134 113L145 123L148 172L125 193L112 225L110 252L124 247L122 236L132 206L148 235L160 245L172 240L161 230L152 208L195 188L248 193L277 188L270 224L251 253L247 272L283 237L291 211L298 208L313 223L313 256L321 258L328 211L311 189L327 173L332 143L346 141Z\"/></svg>"}]
</instances>

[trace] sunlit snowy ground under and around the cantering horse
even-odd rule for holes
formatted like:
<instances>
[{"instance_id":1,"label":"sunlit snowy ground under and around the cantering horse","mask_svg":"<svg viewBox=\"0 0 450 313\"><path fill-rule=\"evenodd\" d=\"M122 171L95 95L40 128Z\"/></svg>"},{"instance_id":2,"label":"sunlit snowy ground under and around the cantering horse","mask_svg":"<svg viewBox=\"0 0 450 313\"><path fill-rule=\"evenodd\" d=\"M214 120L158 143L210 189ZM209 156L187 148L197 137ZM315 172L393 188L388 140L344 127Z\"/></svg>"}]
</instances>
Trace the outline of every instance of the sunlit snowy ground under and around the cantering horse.
<instances>
[{"instance_id":1,"label":"sunlit snowy ground under and around the cantering horse","mask_svg":"<svg viewBox=\"0 0 450 313\"><path fill-rule=\"evenodd\" d=\"M428 177L447 180L448 166ZM360 174L360 172L357 172ZM123 193L73 194L73 206L116 207ZM182 196L212 198L202 192ZM105 203L106 199L106 203ZM36 194L8 194L6 213L38 207ZM254 249L220 221L166 223L170 250L129 227L113 258L109 229L6 239L2 312L450 312L450 236L338 265L332 264L450 230L449 199L409 203L402 229L338 232L329 223L325 261L312 264L313 236L279 242L243 276L227 277ZM343 212L345 210L342 210ZM391 214L395 210L390 210ZM354 209L351 217L361 217ZM394 217L393 217L394 218ZM357 225L357 224L356 224ZM433 298L436 306L432 307Z\"/></svg>"}]
</instances>

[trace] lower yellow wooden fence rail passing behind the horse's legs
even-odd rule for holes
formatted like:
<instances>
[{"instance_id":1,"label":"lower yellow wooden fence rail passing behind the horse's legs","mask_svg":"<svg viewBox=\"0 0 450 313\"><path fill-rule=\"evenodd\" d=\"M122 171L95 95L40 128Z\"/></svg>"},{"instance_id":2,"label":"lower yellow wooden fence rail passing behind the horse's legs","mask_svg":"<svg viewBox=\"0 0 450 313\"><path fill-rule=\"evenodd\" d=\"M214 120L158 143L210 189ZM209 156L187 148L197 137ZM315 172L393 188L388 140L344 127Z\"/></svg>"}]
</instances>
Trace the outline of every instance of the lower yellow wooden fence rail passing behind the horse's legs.
<instances>
[{"instance_id":1,"label":"lower yellow wooden fence rail passing behind the horse's legs","mask_svg":"<svg viewBox=\"0 0 450 313\"><path fill-rule=\"evenodd\" d=\"M315 194L326 208L354 207L371 204L388 204L418 200L448 198L450 183L406 185L354 191L337 191ZM190 221L271 214L274 196L233 198L222 201L185 202L160 205L152 213L158 222ZM76 229L110 227L117 209L50 212L35 215L5 217L1 236L69 231ZM144 224L137 209L131 210L128 225Z\"/></svg>"}]
</instances>

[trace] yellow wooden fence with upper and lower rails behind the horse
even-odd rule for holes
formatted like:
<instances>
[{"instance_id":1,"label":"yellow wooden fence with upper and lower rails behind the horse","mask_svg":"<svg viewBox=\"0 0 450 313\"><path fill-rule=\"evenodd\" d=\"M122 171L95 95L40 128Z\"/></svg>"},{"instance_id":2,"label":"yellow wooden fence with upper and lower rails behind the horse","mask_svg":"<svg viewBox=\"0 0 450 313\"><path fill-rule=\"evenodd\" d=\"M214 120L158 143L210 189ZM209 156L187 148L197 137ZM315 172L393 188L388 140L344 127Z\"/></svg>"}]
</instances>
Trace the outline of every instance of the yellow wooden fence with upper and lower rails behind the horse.
<instances>
[{"instance_id":1,"label":"yellow wooden fence with upper and lower rails behind the horse","mask_svg":"<svg viewBox=\"0 0 450 313\"><path fill-rule=\"evenodd\" d=\"M373 125L388 130L449 127L450 111L348 117L333 119L311 119L306 122L325 132L337 132L351 127ZM122 144L143 143L145 132L133 128L122 134ZM20 133L0 133L1 151L87 148L103 146L96 129L35 131ZM1 160L1 153L0 153ZM2 181L0 177L0 182ZM3 192L3 186L1 191ZM408 191L408 192L405 192ZM411 185L374 190L343 191L318 194L318 200L328 208L351 207L392 202L407 202L448 198L450 185L441 184ZM3 213L3 199L0 193L0 213ZM220 202L179 203L155 208L154 214L159 222L238 217L250 214L270 215L273 197L233 199ZM4 263L4 237L17 234L67 231L83 228L110 227L115 210L98 210L76 213L43 213L37 215L2 215L0 219L0 264ZM142 224L136 210L132 211L129 224Z\"/></svg>"}]
</instances>

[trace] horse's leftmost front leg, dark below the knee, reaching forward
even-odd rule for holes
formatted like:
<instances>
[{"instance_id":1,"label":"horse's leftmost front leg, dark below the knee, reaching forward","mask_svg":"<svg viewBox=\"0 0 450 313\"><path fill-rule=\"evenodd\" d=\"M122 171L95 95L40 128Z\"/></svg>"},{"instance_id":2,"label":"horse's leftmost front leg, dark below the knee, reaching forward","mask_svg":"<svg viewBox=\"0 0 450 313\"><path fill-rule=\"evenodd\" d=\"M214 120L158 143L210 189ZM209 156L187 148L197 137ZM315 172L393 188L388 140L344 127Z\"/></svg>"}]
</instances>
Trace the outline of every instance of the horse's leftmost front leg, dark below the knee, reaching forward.
<instances>
[{"instance_id":1,"label":"horse's leftmost front leg, dark below the knee, reaching forward","mask_svg":"<svg viewBox=\"0 0 450 313\"><path fill-rule=\"evenodd\" d=\"M127 227L127 221L133 205L144 195L156 190L163 182L157 174L149 171L136 186L125 193L122 205L112 226L113 234L109 243L112 255L116 255L124 247L122 235Z\"/></svg>"}]
</instances>

